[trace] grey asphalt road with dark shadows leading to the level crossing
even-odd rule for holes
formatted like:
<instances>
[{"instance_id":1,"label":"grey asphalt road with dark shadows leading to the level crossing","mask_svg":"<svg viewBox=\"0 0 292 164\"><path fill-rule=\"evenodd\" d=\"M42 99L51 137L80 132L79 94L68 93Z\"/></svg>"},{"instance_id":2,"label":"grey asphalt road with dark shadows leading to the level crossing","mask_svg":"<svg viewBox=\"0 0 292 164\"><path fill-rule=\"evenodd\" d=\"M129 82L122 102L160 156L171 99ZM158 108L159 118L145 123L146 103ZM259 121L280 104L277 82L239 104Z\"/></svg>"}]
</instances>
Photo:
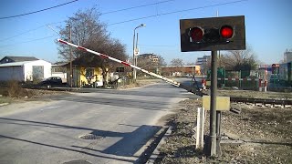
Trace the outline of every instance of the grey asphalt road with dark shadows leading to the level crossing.
<instances>
[{"instance_id":1,"label":"grey asphalt road with dark shadows leading to the level crossing","mask_svg":"<svg viewBox=\"0 0 292 164\"><path fill-rule=\"evenodd\" d=\"M160 83L0 107L0 163L137 163L159 119L188 97Z\"/></svg>"}]
</instances>

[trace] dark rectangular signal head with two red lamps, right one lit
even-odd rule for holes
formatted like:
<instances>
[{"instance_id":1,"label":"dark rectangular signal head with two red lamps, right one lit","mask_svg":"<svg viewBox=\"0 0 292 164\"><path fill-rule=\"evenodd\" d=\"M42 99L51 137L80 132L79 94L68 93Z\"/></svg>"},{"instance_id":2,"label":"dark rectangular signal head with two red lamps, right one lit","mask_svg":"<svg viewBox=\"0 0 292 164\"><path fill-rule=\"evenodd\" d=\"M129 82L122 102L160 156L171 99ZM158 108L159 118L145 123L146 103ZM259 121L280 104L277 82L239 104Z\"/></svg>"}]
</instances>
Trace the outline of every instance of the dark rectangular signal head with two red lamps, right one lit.
<instances>
[{"instance_id":1,"label":"dark rectangular signal head with two red lamps, right one lit","mask_svg":"<svg viewBox=\"0 0 292 164\"><path fill-rule=\"evenodd\" d=\"M181 50L245 49L245 16L181 19Z\"/></svg>"}]
</instances>

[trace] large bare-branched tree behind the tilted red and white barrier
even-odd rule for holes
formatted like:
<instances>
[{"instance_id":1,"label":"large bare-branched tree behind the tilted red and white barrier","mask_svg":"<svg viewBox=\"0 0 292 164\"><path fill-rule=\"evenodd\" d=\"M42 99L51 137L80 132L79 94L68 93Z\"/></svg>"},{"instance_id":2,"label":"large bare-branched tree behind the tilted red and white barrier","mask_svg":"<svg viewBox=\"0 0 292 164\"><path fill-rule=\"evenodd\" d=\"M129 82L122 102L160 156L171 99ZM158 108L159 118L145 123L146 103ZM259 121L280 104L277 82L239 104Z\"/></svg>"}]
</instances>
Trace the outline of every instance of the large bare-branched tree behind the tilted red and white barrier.
<instances>
[{"instance_id":1,"label":"large bare-branched tree behind the tilted red and white barrier","mask_svg":"<svg viewBox=\"0 0 292 164\"><path fill-rule=\"evenodd\" d=\"M126 60L128 58L125 46L119 40L110 38L110 33L106 29L107 26L99 20L99 12L97 9L79 10L75 15L68 17L68 20L65 22L71 27L71 42L73 44L87 47L99 53L119 58L120 60ZM69 39L68 26L59 27L60 35L66 40ZM58 44L58 46L60 58L68 61L70 47L63 44ZM88 52L80 51L76 48L72 48L72 51L73 59L89 55ZM102 67L103 73L106 73L106 67L109 68L116 65L114 62L100 57L95 59L95 63L97 64L96 67Z\"/></svg>"}]
</instances>

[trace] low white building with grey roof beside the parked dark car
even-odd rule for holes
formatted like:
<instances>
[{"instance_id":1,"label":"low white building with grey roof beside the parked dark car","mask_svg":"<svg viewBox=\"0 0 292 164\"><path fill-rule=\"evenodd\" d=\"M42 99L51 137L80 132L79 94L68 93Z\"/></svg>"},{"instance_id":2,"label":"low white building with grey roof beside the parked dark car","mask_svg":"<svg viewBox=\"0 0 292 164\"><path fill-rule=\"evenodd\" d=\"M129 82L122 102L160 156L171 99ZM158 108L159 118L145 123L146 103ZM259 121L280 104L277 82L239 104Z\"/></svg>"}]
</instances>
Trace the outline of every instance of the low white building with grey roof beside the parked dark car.
<instances>
[{"instance_id":1,"label":"low white building with grey roof beside the parked dark car","mask_svg":"<svg viewBox=\"0 0 292 164\"><path fill-rule=\"evenodd\" d=\"M51 77L51 64L45 60L0 64L0 81L33 81Z\"/></svg>"}]
</instances>

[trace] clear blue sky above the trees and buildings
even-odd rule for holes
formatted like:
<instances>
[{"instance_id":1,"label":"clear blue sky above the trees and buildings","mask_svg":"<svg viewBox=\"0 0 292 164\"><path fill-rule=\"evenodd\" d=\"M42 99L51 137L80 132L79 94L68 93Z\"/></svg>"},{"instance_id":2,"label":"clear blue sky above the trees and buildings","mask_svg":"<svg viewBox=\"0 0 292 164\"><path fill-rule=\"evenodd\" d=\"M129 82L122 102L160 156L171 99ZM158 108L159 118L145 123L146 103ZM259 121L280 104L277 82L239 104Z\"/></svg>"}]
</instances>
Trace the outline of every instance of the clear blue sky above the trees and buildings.
<instances>
[{"instance_id":1,"label":"clear blue sky above the trees and buildings","mask_svg":"<svg viewBox=\"0 0 292 164\"><path fill-rule=\"evenodd\" d=\"M47 7L61 5L72 0L3 0L0 17L21 15ZM197 57L210 52L182 53L180 50L179 20L186 18L245 15L246 43L252 46L257 59L266 64L278 63L283 59L286 49L292 48L292 1L291 0L247 0L229 5L218 5L193 9L187 12L162 15L165 13L217 5L236 0L78 0L33 15L0 19L0 58L4 56L36 56L56 62L57 34L46 25L57 29L66 26L64 20L74 15L78 9L96 6L99 12L107 13L138 5L148 5L121 12L101 15L102 22L108 24L108 31L127 47L132 56L133 30L139 28L141 54L154 53L164 57L166 62L172 58L182 58L185 63L195 62ZM149 5L158 3L157 5ZM145 16L150 18L120 23ZM57 23L60 22L60 23Z\"/></svg>"}]
</instances>

